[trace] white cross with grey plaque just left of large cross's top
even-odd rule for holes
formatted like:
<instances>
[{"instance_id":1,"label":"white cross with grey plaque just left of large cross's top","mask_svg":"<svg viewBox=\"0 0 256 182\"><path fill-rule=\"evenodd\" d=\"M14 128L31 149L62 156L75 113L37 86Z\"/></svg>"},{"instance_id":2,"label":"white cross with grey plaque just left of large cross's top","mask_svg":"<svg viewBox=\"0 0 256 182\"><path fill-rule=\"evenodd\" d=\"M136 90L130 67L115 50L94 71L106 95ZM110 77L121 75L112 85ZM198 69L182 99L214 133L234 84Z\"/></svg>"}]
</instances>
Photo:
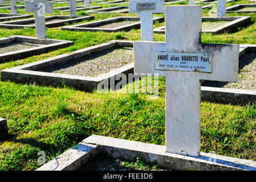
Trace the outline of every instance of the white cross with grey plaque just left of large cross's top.
<instances>
[{"instance_id":1,"label":"white cross with grey plaque just left of large cross's top","mask_svg":"<svg viewBox=\"0 0 256 182\"><path fill-rule=\"evenodd\" d=\"M141 40L153 41L153 15L164 13L164 0L131 0L129 13L137 13L141 20Z\"/></svg>"}]
</instances>

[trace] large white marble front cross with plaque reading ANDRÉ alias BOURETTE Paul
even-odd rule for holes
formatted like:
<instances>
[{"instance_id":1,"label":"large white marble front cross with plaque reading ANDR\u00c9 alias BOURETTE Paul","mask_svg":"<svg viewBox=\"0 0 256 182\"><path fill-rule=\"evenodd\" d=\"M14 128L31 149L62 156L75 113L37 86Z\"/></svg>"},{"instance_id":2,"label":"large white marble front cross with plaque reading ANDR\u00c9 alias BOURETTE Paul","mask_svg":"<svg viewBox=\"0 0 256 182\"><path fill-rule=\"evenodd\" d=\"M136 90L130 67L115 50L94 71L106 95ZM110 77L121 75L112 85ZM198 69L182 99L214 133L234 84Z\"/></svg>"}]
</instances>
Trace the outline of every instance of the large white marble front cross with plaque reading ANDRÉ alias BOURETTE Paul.
<instances>
[{"instance_id":1,"label":"large white marble front cross with plaque reading ANDR\u00c9 alias BOURETTE Paul","mask_svg":"<svg viewBox=\"0 0 256 182\"><path fill-rule=\"evenodd\" d=\"M166 152L200 155L200 80L237 81L239 45L203 44L201 29L201 5L165 6L165 42L134 42L135 73L166 78Z\"/></svg>"}]
</instances>

